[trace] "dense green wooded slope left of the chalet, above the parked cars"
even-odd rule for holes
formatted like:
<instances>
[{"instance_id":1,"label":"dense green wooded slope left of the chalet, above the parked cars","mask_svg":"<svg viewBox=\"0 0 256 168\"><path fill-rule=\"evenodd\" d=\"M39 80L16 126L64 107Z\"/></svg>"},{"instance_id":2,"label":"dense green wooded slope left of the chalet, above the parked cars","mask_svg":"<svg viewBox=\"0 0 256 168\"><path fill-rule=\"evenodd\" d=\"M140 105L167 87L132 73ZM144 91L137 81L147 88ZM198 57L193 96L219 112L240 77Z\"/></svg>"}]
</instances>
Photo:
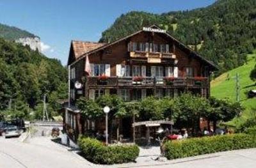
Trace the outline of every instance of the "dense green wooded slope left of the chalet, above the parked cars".
<instances>
[{"instance_id":1,"label":"dense green wooded slope left of the chalet, above the parked cars","mask_svg":"<svg viewBox=\"0 0 256 168\"><path fill-rule=\"evenodd\" d=\"M56 100L67 98L66 68L57 59L0 38L0 118L42 119L44 94L53 115Z\"/></svg>"}]
</instances>

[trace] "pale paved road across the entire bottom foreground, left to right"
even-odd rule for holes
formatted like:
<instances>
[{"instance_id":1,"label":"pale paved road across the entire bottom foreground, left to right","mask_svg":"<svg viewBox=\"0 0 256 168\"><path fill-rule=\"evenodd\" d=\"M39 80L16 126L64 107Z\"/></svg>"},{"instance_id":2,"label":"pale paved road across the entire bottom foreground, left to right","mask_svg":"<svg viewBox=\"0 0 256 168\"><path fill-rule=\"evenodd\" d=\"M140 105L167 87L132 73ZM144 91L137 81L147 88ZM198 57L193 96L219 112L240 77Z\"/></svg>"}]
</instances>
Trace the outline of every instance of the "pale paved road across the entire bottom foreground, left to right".
<instances>
[{"instance_id":1,"label":"pale paved road across the entire bottom foreground, left to right","mask_svg":"<svg viewBox=\"0 0 256 168\"><path fill-rule=\"evenodd\" d=\"M182 158L177 160L168 160L167 162L158 162L154 151L150 149L148 156L146 151L141 151L141 157L137 159L137 164L122 165L100 165L100 167L255 167L256 149L242 149L237 151L227 151L224 153L213 153L198 157ZM153 159L152 159L153 158ZM29 142L19 142L18 139L3 139L0 137L0 167L1 168L83 168L94 167L97 165L87 162L75 153L72 153L52 142L47 137L34 137ZM99 167L99 165L97 166Z\"/></svg>"}]
</instances>

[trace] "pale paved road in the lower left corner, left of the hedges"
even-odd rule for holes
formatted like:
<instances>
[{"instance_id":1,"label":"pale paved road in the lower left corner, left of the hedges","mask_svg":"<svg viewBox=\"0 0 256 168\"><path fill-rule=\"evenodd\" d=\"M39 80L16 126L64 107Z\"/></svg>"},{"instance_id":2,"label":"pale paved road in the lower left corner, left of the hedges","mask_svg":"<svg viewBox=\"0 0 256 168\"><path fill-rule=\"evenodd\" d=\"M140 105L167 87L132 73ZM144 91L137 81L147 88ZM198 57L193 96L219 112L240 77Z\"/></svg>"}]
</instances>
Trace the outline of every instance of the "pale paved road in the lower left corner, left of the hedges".
<instances>
[{"instance_id":1,"label":"pale paved road in the lower left corner, left of the hedges","mask_svg":"<svg viewBox=\"0 0 256 168\"><path fill-rule=\"evenodd\" d=\"M47 137L37 137L31 142L0 137L1 168L90 167L90 163Z\"/></svg>"}]
</instances>

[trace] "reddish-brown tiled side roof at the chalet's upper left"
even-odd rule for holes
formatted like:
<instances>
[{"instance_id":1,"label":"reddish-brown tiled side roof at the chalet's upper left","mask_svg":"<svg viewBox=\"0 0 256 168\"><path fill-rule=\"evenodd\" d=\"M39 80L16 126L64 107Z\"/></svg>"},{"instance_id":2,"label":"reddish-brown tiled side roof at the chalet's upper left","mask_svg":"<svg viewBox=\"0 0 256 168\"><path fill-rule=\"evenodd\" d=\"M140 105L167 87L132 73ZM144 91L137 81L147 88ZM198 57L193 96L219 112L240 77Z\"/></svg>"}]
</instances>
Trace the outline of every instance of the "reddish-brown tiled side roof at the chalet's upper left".
<instances>
[{"instance_id":1,"label":"reddish-brown tiled side roof at the chalet's upper left","mask_svg":"<svg viewBox=\"0 0 256 168\"><path fill-rule=\"evenodd\" d=\"M105 43L95 43L95 42L83 42L72 40L72 46L74 49L74 54L76 59L82 56L86 52L102 47Z\"/></svg>"}]
</instances>

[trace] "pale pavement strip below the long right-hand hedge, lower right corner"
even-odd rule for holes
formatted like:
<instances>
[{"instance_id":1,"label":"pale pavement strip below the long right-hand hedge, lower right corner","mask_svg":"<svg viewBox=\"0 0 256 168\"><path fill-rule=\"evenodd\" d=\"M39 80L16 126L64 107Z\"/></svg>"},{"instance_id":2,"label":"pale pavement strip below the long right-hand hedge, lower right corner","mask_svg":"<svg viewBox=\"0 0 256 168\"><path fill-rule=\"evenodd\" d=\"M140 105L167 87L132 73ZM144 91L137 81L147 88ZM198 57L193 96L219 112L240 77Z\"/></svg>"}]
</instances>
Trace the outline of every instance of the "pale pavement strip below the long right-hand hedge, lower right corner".
<instances>
[{"instance_id":1,"label":"pale pavement strip below the long right-hand hedge, lower right corner","mask_svg":"<svg viewBox=\"0 0 256 168\"><path fill-rule=\"evenodd\" d=\"M140 158L139 158L140 159ZM145 163L131 163L112 165L112 167L255 167L256 148L225 151L196 157L179 158L166 162L150 161Z\"/></svg>"}]
</instances>

